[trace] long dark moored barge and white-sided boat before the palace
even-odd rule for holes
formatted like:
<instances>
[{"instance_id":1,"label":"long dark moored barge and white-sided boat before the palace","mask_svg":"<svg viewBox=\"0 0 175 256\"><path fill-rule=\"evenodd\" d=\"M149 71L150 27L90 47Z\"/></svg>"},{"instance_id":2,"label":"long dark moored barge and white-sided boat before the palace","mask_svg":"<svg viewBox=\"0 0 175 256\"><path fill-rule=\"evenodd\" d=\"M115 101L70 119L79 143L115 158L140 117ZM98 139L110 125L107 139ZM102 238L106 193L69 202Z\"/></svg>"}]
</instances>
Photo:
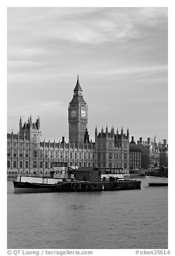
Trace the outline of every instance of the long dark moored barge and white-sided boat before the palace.
<instances>
[{"instance_id":1,"label":"long dark moored barge and white-sided boat before the palace","mask_svg":"<svg viewBox=\"0 0 175 256\"><path fill-rule=\"evenodd\" d=\"M141 181L115 177L101 181L101 171L95 167L69 168L67 163L53 163L50 177L17 176L14 193L75 192L141 189Z\"/></svg>"}]
</instances>

